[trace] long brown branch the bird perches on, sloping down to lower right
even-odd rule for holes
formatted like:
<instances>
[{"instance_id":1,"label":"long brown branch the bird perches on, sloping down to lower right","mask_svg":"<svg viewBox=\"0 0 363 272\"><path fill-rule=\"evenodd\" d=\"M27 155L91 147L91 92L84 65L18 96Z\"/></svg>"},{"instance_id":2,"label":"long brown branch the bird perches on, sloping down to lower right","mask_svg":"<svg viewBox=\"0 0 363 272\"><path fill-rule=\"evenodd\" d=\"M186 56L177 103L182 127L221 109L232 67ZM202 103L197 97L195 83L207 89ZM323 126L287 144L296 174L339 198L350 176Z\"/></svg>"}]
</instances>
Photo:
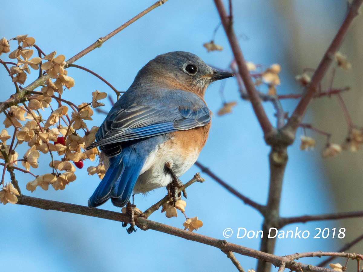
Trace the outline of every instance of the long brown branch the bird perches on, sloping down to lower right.
<instances>
[{"instance_id":1,"label":"long brown branch the bird perches on, sloping down to lower right","mask_svg":"<svg viewBox=\"0 0 363 272\"><path fill-rule=\"evenodd\" d=\"M117 213L114 211L107 211L102 209L89 209L89 207L75 205L70 203L46 200L41 198L29 197L23 195L19 197L18 203L19 205L26 205L31 207L36 207L43 210L55 210L55 211L63 211L74 214L82 214L88 215L91 217L98 217L103 219L109 219L118 222L130 223L130 218L126 214ZM219 248L223 252L235 252L241 255L253 257L256 259L264 260L266 262L272 263L276 267L285 263L286 268L291 269L291 271L300 271L300 268L303 271L315 271L315 272L331 272L331 269L316 267L313 265L302 264L294 261L298 257L314 257L314 256L337 256L337 257L347 257L351 259L363 259L362 255L359 254L351 254L344 252L305 252L300 254L294 254L290 256L275 256L272 254L268 254L265 252L261 252L258 250L253 250L251 248L239 246L237 244L229 243L226 240L220 240L212 237L208 237L205 235L197 234L190 231L185 231L180 228L168 226L166 224L162 224L159 222L151 221L145 219L143 217L135 217L136 226L138 226L142 230L156 230L160 232L164 232L166 234L171 234L174 236L178 236L187 240L207 244L209 246L213 246Z\"/></svg>"}]
</instances>

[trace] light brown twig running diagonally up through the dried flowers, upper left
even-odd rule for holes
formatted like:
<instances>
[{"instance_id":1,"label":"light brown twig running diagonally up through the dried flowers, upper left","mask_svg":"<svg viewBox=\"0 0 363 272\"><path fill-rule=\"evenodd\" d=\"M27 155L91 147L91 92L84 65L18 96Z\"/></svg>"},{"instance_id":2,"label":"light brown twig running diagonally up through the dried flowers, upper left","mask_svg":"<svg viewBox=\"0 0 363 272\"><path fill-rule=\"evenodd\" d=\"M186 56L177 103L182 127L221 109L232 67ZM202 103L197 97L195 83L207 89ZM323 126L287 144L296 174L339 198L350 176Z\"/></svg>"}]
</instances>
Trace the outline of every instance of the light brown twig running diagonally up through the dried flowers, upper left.
<instances>
[{"instance_id":1,"label":"light brown twig running diagonally up through the dried flowers, upper left","mask_svg":"<svg viewBox=\"0 0 363 272\"><path fill-rule=\"evenodd\" d=\"M113 32L107 34L105 37L99 38L96 42L88 46L86 49L83 49L78 54L74 55L72 58L68 59L67 65L69 66L73 62L77 61L77 59L83 57L84 55L88 54L90 51L100 47L105 41L109 40L111 37L115 36L117 33L119 33L121 30L125 29L127 26L131 25L133 22L141 18L142 16L146 15L153 9L160 7L162 4L164 4L167 0L160 0L157 1L155 4L151 5L147 9L145 9L143 12L136 15L131 20L127 21L125 24L119 26L117 29L115 29ZM67 66L66 65L66 66ZM0 102L0 113L3 112L5 109L14 106L16 104L25 102L28 100L28 98L25 96L27 92L33 91L35 88L41 86L44 82L46 82L49 79L49 75L44 75L41 78L38 78L36 81L30 83L28 86L24 87L19 92L16 92L16 94L13 94L10 96L10 98L4 102Z\"/></svg>"}]
</instances>

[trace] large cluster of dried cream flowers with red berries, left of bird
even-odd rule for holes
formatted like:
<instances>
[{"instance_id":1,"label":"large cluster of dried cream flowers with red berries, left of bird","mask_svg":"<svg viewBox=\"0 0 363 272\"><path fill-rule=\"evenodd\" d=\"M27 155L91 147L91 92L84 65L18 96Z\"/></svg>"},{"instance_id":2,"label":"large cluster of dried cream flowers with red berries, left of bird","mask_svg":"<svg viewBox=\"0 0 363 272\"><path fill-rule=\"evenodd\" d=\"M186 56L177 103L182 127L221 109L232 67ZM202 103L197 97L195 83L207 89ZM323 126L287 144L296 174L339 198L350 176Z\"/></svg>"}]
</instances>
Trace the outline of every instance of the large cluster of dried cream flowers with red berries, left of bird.
<instances>
[{"instance_id":1,"label":"large cluster of dried cream flowers with red berries, left of bird","mask_svg":"<svg viewBox=\"0 0 363 272\"><path fill-rule=\"evenodd\" d=\"M65 100L61 95L64 89L74 87L74 79L67 75L64 55L57 55L56 51L45 55L35 45L35 39L28 35L20 35L14 39L17 48L8 54L10 59L17 61L9 67L9 75L19 91L26 81L26 75L31 70L41 69L48 74L49 79L44 82L40 90L34 90L28 95L24 103L14 105L5 110L5 129L0 132L0 159L2 165L8 165L14 170L33 175L33 180L26 184L29 191L41 187L48 190L52 185L55 190L64 190L66 185L76 180L74 174L77 168L83 167L83 161L94 161L99 151L84 148L93 143L98 127L88 129L86 121L92 120L93 108L104 106L99 100L106 98L105 92L94 91L87 102L76 104ZM0 55L10 52L9 42L0 40ZM43 57L34 57L34 50ZM16 149L20 145L28 144L29 148L19 155ZM44 155L42 155L44 154ZM41 157L44 156L43 157ZM49 156L50 155L50 156ZM50 173L37 175L33 173L40 161L46 161L50 166ZM21 162L21 165L18 165ZM76 166L76 167L75 167ZM5 166L4 166L5 167ZM100 178L105 174L105 166L100 161L97 166L87 169L89 174L97 173ZM20 195L18 187L4 178L0 182L1 203L16 203Z\"/></svg>"}]
</instances>

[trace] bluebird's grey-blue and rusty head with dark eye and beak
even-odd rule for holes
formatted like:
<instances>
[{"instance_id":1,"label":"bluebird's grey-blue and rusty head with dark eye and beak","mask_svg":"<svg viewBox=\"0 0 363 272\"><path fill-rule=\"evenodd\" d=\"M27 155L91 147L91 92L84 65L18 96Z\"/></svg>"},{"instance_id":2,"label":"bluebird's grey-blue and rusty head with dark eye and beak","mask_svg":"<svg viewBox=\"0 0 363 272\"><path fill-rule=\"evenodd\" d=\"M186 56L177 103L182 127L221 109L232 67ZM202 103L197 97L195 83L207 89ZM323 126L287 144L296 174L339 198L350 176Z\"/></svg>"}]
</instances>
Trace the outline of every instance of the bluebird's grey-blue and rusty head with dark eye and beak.
<instances>
[{"instance_id":1,"label":"bluebird's grey-blue and rusty head with dark eye and beak","mask_svg":"<svg viewBox=\"0 0 363 272\"><path fill-rule=\"evenodd\" d=\"M233 77L205 64L197 55L175 51L158 55L138 73L134 83L155 83L162 87L191 91L203 97L208 85L219 79Z\"/></svg>"}]
</instances>

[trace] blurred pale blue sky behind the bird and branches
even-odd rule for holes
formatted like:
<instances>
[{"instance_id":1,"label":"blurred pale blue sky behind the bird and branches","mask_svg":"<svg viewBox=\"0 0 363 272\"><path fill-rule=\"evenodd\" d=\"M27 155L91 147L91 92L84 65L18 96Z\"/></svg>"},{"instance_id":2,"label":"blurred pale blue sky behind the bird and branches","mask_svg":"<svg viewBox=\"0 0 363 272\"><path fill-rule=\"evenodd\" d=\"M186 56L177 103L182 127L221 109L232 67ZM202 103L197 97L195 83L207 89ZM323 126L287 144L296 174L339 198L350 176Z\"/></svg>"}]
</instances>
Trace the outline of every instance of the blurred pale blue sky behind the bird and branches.
<instances>
[{"instance_id":1,"label":"blurred pale blue sky behind the bird and branches","mask_svg":"<svg viewBox=\"0 0 363 272\"><path fill-rule=\"evenodd\" d=\"M291 33L273 1L233 1L234 26L237 34L244 34L241 46L248 61L269 66L282 66L282 86L279 93L297 90L294 73L289 66L293 52L290 51ZM298 1L297 1L298 2ZM328 1L329 4L308 1L309 4L295 3L294 12L302 25L311 27L310 8L320 13L319 27L322 35L338 28L345 12L342 1ZM334 2L333 4L331 2ZM66 59L105 36L119 25L134 17L154 1L5 1L0 9L2 24L0 36L12 38L19 34L29 34L36 38L36 44L45 53L57 50ZM326 5L336 16L327 16ZM309 9L308 9L309 8ZM213 29L219 23L219 16L211 1L170 0L148 15L127 27L76 64L85 66L106 78L118 90L127 90L137 71L158 54L183 50L199 55L205 62L217 67L227 67L232 59L231 50L223 29L216 35L215 42L221 44L221 52L207 53L203 43L210 41ZM326 30L324 30L326 29ZM324 31L323 31L324 30ZM310 37L319 39L319 37ZM328 37L330 38L330 36ZM16 48L11 44L11 51ZM314 49L314 48L313 48ZM323 54L323 51L322 51ZM6 59L2 55L0 58ZM318 60L317 60L318 62ZM1 100L11 95L13 85L5 70L0 70ZM76 85L66 91L64 98L76 104L91 100L91 92L105 91L114 96L112 90L97 78L76 68L69 68L68 75ZM37 77L32 72L27 82ZM220 83L210 86L205 100L213 112L221 107ZM265 203L268 188L268 152L261 129L248 102L241 101L235 79L227 79L225 87L227 101L237 100L233 114L214 116L207 145L200 154L199 161L213 170L228 184L257 202ZM106 107L110 108L110 104ZM284 102L285 110L291 111L295 101ZM266 104L266 110L274 120L273 108ZM3 118L3 116L1 116ZM95 113L89 127L100 125L105 118ZM311 120L307 116L306 120ZM2 121L0 129L3 128ZM322 140L324 142L324 140ZM299 151L299 143L289 147L289 162L286 169L282 193L282 216L317 214L334 211L334 199L320 167L319 149L313 152ZM26 150L26 147L18 152ZM46 163L34 173L49 171ZM18 174L24 194L34 197L87 205L87 200L99 183L96 176L87 176L87 162L83 169L77 169L77 180L63 191L48 191L38 188L34 193L26 191L26 182L31 176ZM199 169L193 166L181 178L188 181ZM233 197L215 181L202 175L206 182L189 187L186 213L188 217L198 216L204 223L198 233L223 239L222 232L230 227L237 230L260 230L262 217L239 199ZM328 188L328 189L327 189ZM165 189L150 192L147 196L136 195L135 203L145 210L166 193ZM111 203L102 209L119 211ZM91 218L81 215L44 211L33 207L6 205L0 207L0 228L3 235L0 247L1 270L3 271L233 271L231 261L216 248L193 243L178 237L156 231L137 231L128 235L121 223ZM151 220L182 227L184 217L168 219L164 213L154 213ZM340 227L332 222L294 224L295 227L315 233L317 227ZM242 246L259 248L258 239L229 238L229 242ZM344 241L348 242L348 241ZM303 251L337 250L337 239L278 240L276 254L287 255ZM256 260L237 255L245 269L255 267ZM320 259L311 260L317 264Z\"/></svg>"}]
</instances>

